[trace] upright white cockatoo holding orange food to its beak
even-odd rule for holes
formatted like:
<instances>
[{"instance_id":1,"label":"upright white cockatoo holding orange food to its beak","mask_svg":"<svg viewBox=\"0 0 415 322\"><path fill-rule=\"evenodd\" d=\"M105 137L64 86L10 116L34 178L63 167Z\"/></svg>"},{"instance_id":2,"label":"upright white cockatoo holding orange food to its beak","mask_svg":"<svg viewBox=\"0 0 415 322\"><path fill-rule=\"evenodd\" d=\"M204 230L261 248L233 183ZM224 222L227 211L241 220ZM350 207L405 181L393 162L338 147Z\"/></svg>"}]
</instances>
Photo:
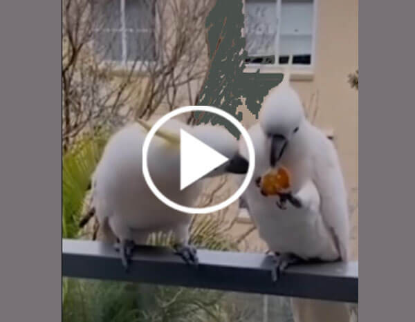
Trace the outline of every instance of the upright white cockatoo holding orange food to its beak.
<instances>
[{"instance_id":1,"label":"upright white cockatoo holding orange food to its beak","mask_svg":"<svg viewBox=\"0 0 415 322\"><path fill-rule=\"evenodd\" d=\"M256 167L243 194L259 236L275 254L274 281L288 265L347 261L349 255L347 192L337 152L331 140L306 120L287 78L268 93L259 122L248 131ZM241 155L248 155L244 145ZM291 175L291 191L263 195L261 177L279 166ZM296 321L349 321L344 303L305 299L292 303Z\"/></svg>"}]
</instances>

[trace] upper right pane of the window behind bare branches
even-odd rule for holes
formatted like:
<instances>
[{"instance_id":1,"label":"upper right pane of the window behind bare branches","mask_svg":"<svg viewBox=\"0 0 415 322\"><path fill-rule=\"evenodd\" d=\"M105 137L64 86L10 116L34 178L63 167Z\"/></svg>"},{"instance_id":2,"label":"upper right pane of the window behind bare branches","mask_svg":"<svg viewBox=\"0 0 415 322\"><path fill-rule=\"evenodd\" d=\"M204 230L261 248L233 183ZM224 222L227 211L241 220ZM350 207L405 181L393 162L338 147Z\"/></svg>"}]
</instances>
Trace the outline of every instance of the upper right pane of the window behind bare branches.
<instances>
[{"instance_id":1,"label":"upper right pane of the window behind bare branches","mask_svg":"<svg viewBox=\"0 0 415 322\"><path fill-rule=\"evenodd\" d=\"M151 0L125 0L125 23L131 29L154 28L154 10Z\"/></svg>"}]
</instances>

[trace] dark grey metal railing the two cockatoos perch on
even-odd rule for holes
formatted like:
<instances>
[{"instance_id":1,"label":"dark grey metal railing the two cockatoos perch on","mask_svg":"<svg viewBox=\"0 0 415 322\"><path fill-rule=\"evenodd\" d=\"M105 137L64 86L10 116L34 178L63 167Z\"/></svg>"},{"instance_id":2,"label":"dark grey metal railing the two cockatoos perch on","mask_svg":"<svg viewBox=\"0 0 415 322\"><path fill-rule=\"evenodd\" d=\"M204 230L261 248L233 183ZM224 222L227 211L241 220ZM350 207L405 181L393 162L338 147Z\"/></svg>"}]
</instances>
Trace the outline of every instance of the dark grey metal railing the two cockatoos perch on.
<instances>
[{"instance_id":1,"label":"dark grey metal railing the two cockatoos perch on","mask_svg":"<svg viewBox=\"0 0 415 322\"><path fill-rule=\"evenodd\" d=\"M62 275L358 303L358 262L288 267L277 282L263 254L199 249L199 266L166 247L140 246L125 272L112 245L62 240Z\"/></svg>"}]
</instances>

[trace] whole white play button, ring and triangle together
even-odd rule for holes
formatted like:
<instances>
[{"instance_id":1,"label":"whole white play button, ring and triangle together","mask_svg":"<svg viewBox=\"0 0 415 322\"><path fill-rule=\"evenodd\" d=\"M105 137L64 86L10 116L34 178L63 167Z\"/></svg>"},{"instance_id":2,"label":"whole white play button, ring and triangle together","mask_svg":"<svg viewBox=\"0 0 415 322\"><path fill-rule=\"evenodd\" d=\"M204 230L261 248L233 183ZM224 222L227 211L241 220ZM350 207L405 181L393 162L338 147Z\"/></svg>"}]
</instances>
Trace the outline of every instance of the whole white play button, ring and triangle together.
<instances>
[{"instance_id":1,"label":"whole white play button, ring and triangle together","mask_svg":"<svg viewBox=\"0 0 415 322\"><path fill-rule=\"evenodd\" d=\"M243 179L241 186L237 189L237 191L235 191L235 193L232 194L232 196L230 196L227 200L219 202L219 204L217 205L208 205L208 207L189 207L189 205L181 205L180 203L177 203L176 201L167 198L167 196L165 196L158 189L158 187L156 187L156 184L154 184L149 173L149 147L151 140L154 138L154 135L156 135L157 131L163 126L163 124L165 124L165 122L167 122L168 120L172 119L172 117L176 117L184 113L194 112L212 113L218 115L219 117L222 117L225 120L228 120L228 122L233 124L235 128L241 133L243 141L246 143L246 147L248 148L249 160L246 160L245 156L240 155L232 155L231 158L230 155L225 153L225 155L230 158L230 160L228 161L229 164L228 162L226 164L228 169L223 169L223 171L219 171L220 173L217 173L218 175L223 173L243 174L246 172L245 170L247 165L248 172L246 173L245 179ZM178 155L181 157L181 169L177 169L181 171L180 175L178 176L181 182L180 184L175 183L176 192L179 190L179 188L181 190L185 189L185 187L187 187L188 189L192 189L192 182L201 179L207 173L212 173L212 169L214 169L215 167L220 167L221 164L228 160L227 158L225 158L224 155L221 155L221 153L219 153L218 151L214 151L214 149L212 149L210 146L207 146L204 142L201 142L198 139L199 135L196 135L196 132L194 134L195 137L193 137L189 133L186 133L185 131L181 131L181 135L177 135L178 133L176 132L176 129L174 133L165 134L169 137L169 140L172 139L171 141L174 145L178 142L178 140L180 140L180 138L177 138L177 136L181 136L181 152L178 153ZM176 146L175 151L177 151ZM222 150L220 149L219 151ZM245 162L243 162L243 160ZM176 169L175 167L177 167L177 161L178 160L174 162L174 169ZM223 166L224 165L225 164L223 164ZM233 202L237 201L238 198L241 197L243 191L245 191L246 188L248 188L248 185L252 180L252 176L254 175L254 170L255 150L254 144L252 144L252 140L250 138L248 131L246 131L243 125L229 112L223 111L220 108L212 106L185 106L176 108L174 111L160 117L160 120L158 120L153 126L150 126L149 133L147 134L144 142L142 143L142 175L144 176L145 182L149 186L149 189L151 190L151 192L154 193L154 196L156 196L156 198L158 198L160 202L163 202L165 205L167 205L167 207L170 207L172 209L175 209L176 211L185 214L212 214L216 211L219 211L225 207L232 205ZM177 177L174 176L174 179L176 178Z\"/></svg>"}]
</instances>

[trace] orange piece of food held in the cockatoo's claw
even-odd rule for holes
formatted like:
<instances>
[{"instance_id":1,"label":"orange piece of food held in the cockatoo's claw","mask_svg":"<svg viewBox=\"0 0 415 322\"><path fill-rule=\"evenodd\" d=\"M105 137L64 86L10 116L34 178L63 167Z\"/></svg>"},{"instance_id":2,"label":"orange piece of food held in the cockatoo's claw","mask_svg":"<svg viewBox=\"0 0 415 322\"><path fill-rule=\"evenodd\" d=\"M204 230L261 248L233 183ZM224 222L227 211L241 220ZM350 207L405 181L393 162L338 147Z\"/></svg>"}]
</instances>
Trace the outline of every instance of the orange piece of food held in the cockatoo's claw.
<instances>
[{"instance_id":1,"label":"orange piece of food held in the cockatoo's claw","mask_svg":"<svg viewBox=\"0 0 415 322\"><path fill-rule=\"evenodd\" d=\"M284 167L272 169L261 178L259 185L264 196L288 193L291 187L290 173Z\"/></svg>"}]
</instances>

